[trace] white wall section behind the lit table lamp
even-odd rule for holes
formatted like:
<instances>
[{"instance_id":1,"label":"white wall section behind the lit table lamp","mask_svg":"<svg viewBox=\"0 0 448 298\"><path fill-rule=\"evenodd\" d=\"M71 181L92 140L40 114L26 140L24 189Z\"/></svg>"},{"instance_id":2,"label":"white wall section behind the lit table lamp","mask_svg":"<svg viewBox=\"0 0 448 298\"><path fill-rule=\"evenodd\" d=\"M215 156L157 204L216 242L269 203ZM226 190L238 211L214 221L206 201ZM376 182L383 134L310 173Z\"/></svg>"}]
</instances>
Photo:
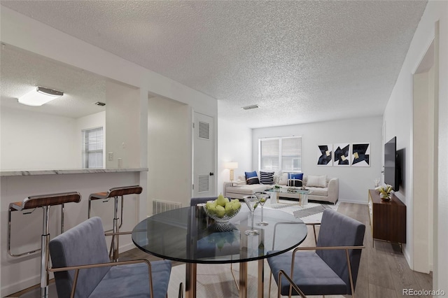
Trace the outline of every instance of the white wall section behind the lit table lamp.
<instances>
[{"instance_id":1,"label":"white wall section behind the lit table lamp","mask_svg":"<svg viewBox=\"0 0 448 298\"><path fill-rule=\"evenodd\" d=\"M224 162L238 162L235 180L252 169L252 129L223 118L218 118L218 187L217 194L223 194L223 184L230 180L229 170Z\"/></svg>"}]
</instances>

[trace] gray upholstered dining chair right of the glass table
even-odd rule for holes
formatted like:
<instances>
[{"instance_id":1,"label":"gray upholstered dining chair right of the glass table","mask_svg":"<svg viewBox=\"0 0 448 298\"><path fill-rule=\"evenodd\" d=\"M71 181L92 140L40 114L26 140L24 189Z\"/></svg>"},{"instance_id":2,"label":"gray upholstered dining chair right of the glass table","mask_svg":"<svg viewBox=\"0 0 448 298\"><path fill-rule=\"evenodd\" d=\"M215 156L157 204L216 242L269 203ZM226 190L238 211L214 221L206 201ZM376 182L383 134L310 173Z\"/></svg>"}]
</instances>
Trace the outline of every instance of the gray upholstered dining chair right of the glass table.
<instances>
[{"instance_id":1,"label":"gray upholstered dining chair right of the glass table","mask_svg":"<svg viewBox=\"0 0 448 298\"><path fill-rule=\"evenodd\" d=\"M298 247L293 252L267 258L272 276L279 286L279 297L280 295L354 297L361 248L365 248L364 232L363 223L330 208L325 209L316 247ZM290 286L291 283L296 289ZM270 285L269 279L269 292ZM300 292L297 292L298 290Z\"/></svg>"}]
</instances>

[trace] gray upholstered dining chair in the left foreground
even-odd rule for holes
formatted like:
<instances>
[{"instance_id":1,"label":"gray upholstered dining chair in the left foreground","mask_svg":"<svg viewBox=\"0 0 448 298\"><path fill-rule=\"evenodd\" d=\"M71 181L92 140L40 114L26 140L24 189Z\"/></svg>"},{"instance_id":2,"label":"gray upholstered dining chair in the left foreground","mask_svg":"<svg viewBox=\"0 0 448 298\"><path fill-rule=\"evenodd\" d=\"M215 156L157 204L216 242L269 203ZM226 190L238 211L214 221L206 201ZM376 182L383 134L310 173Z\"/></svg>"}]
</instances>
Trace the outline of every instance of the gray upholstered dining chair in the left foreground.
<instances>
[{"instance_id":1,"label":"gray upholstered dining chair in the left foreground","mask_svg":"<svg viewBox=\"0 0 448 298\"><path fill-rule=\"evenodd\" d=\"M93 217L50 241L57 296L167 297L168 260L110 262L101 219ZM183 295L179 290L179 297Z\"/></svg>"}]
</instances>

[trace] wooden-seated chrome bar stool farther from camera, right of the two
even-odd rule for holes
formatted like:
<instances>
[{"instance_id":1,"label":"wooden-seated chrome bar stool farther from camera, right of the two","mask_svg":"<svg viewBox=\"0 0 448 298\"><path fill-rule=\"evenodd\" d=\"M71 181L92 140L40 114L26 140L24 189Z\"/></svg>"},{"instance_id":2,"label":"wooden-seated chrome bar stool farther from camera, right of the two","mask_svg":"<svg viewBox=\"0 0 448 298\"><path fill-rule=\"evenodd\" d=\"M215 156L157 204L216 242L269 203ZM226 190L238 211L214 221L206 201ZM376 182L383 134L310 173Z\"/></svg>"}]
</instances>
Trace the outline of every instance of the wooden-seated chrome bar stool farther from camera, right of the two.
<instances>
[{"instance_id":1,"label":"wooden-seated chrome bar stool farther from camera, right of the two","mask_svg":"<svg viewBox=\"0 0 448 298\"><path fill-rule=\"evenodd\" d=\"M94 194L90 194L89 196L89 208L88 208L88 218L90 218L90 206L91 202L97 199L102 199L103 202L109 201L109 199L114 199L114 208L113 208L113 233L112 233L112 241L111 241L111 250L109 251L109 257L113 262L118 261L118 236L120 234L130 234L130 232L121 232L120 227L123 225L123 196L126 194L141 194L143 189L139 185L132 186L123 186L123 187L113 187L109 190L109 192L96 192ZM118 197L121 197L121 211L120 218L118 218ZM120 224L118 224L118 220L120 220ZM106 231L111 232L111 230ZM108 234L106 234L107 236Z\"/></svg>"}]
</instances>

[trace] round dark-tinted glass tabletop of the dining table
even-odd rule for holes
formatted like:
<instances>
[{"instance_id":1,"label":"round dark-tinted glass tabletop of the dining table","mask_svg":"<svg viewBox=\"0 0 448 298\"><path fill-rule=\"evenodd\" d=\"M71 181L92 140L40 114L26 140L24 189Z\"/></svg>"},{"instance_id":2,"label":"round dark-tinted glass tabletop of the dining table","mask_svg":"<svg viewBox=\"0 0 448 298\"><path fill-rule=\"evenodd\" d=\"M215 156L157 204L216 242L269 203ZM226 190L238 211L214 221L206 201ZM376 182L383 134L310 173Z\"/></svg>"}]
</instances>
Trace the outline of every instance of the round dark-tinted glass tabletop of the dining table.
<instances>
[{"instance_id":1,"label":"round dark-tinted glass tabletop of the dining table","mask_svg":"<svg viewBox=\"0 0 448 298\"><path fill-rule=\"evenodd\" d=\"M264 209L265 226L255 225L260 234L247 236L251 215L248 207L230 219L225 232L211 218L200 218L196 207L166 211L139 222L132 231L134 244L157 257L187 263L223 264L260 260L298 246L307 236L302 220L289 213ZM255 222L260 208L255 209ZM219 227L220 229L222 227ZM276 253L267 255L269 250Z\"/></svg>"}]
</instances>

